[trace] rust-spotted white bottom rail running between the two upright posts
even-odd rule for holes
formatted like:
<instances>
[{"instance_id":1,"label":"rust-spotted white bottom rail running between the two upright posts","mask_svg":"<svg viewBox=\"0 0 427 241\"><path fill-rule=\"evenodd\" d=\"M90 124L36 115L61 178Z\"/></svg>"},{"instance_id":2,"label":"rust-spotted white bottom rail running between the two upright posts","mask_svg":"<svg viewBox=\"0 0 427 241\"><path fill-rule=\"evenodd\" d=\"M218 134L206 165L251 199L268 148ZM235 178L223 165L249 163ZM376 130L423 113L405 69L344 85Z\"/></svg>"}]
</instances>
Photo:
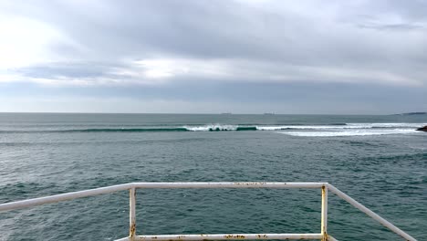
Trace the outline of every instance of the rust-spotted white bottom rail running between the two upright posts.
<instances>
[{"instance_id":1,"label":"rust-spotted white bottom rail running between the two upright posts","mask_svg":"<svg viewBox=\"0 0 427 241\"><path fill-rule=\"evenodd\" d=\"M262 240L262 239L321 239L322 234L225 234L225 235L169 235L135 236L135 240Z\"/></svg>"}]
</instances>

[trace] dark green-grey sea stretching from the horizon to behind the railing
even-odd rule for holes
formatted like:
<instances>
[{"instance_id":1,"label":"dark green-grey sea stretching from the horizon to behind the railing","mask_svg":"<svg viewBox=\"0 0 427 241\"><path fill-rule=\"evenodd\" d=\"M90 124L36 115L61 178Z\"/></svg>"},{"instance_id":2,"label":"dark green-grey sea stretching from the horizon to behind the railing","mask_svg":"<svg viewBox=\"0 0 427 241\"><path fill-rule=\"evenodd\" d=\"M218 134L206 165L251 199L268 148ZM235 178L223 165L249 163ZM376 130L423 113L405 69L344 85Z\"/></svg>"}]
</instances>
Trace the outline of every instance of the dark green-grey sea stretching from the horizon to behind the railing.
<instances>
[{"instance_id":1,"label":"dark green-grey sea stretching from the horizon to behind the railing","mask_svg":"<svg viewBox=\"0 0 427 241\"><path fill-rule=\"evenodd\" d=\"M427 240L417 116L0 113L0 203L129 182L328 182ZM0 240L128 235L129 194L0 213ZM138 190L138 234L318 233L319 190ZM329 195L339 240L401 240Z\"/></svg>"}]
</instances>

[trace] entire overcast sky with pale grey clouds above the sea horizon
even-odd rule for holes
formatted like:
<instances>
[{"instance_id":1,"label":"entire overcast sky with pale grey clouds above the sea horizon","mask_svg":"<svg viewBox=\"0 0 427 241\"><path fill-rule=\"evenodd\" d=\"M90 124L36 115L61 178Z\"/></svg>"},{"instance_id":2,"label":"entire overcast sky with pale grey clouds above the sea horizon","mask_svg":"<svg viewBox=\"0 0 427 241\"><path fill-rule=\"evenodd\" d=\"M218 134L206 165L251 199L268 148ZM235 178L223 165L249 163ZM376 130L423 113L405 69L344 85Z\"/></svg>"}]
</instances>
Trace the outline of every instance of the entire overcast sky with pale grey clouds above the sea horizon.
<instances>
[{"instance_id":1,"label":"entire overcast sky with pale grey clouds above the sea horizon","mask_svg":"<svg viewBox=\"0 0 427 241\"><path fill-rule=\"evenodd\" d=\"M427 1L0 1L0 111L427 110Z\"/></svg>"}]
</instances>

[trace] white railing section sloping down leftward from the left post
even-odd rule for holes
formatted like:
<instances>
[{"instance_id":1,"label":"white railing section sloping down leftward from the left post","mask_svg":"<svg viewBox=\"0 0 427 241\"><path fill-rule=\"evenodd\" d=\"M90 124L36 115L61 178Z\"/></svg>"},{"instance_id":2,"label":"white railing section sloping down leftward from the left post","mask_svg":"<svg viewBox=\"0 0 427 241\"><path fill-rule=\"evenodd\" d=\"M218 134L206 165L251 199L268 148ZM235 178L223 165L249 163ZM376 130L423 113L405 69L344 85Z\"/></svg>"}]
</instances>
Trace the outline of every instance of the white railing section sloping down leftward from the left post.
<instances>
[{"instance_id":1,"label":"white railing section sloping down leftward from the left post","mask_svg":"<svg viewBox=\"0 0 427 241\"><path fill-rule=\"evenodd\" d=\"M72 192L67 194L57 194L57 195L50 195L45 197L26 199L23 201L0 204L0 211L12 210L17 208L41 205L41 204L52 204L52 203L57 203L61 201L76 199L79 197L86 197L86 196L99 195L99 194L110 194L118 191L127 190L127 189L130 189L131 187L132 187L132 183L126 183L126 184L112 185L112 186L99 187L99 188L89 189L84 191Z\"/></svg>"}]
</instances>

